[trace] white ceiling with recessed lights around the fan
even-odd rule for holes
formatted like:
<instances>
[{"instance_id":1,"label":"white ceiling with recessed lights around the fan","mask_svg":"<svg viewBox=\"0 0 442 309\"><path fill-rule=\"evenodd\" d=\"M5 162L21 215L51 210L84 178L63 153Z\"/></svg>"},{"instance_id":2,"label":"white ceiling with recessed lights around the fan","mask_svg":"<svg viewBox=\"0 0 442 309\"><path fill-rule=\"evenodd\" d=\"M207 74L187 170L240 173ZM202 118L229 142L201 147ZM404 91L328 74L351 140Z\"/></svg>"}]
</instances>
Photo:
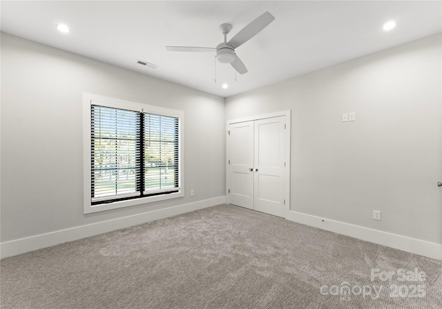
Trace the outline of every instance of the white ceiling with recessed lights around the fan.
<instances>
[{"instance_id":1,"label":"white ceiling with recessed lights around the fan","mask_svg":"<svg viewBox=\"0 0 442 309\"><path fill-rule=\"evenodd\" d=\"M1 1L1 31L220 97L276 83L441 32L441 1ZM265 11L273 21L236 52L240 75L215 47ZM396 28L382 30L385 21ZM66 23L70 32L55 25ZM157 69L137 64L148 61ZM236 79L236 81L235 81ZM222 89L228 83L228 89Z\"/></svg>"}]
</instances>

